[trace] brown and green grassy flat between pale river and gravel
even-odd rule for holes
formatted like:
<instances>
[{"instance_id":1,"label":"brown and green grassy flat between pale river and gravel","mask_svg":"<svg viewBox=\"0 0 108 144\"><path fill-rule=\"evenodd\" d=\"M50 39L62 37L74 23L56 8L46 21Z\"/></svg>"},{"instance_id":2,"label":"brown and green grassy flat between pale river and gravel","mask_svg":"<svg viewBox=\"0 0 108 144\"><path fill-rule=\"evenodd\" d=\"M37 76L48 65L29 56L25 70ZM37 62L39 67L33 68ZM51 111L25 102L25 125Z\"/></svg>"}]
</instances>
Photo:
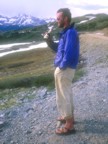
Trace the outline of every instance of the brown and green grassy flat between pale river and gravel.
<instances>
[{"instance_id":1,"label":"brown and green grassy flat between pale river and gravel","mask_svg":"<svg viewBox=\"0 0 108 144\"><path fill-rule=\"evenodd\" d=\"M47 86L54 88L54 53L49 48L18 52L0 58L0 89ZM74 81L83 76L77 70Z\"/></svg>"}]
</instances>

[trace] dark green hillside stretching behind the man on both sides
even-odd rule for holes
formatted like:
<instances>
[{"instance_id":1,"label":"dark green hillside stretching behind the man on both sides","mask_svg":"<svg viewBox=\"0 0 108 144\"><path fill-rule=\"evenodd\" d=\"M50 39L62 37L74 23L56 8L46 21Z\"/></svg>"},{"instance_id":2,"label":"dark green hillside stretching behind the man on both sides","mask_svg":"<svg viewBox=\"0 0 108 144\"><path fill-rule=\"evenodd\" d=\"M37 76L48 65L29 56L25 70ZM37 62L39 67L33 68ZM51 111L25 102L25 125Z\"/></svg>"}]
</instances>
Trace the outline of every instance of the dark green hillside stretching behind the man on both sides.
<instances>
[{"instance_id":1,"label":"dark green hillside stretching behind the man on both sides","mask_svg":"<svg viewBox=\"0 0 108 144\"><path fill-rule=\"evenodd\" d=\"M97 31L108 28L108 15L107 14L89 14L81 17L76 17L72 19L75 22L75 27L79 32L86 31ZM0 33L0 43L9 43L9 42L26 42L26 41L43 41L42 33L48 30L50 25L53 25L54 22L49 22L43 26L30 27L23 30L15 30L9 32ZM57 25L54 25L54 30L52 35L58 39Z\"/></svg>"}]
</instances>

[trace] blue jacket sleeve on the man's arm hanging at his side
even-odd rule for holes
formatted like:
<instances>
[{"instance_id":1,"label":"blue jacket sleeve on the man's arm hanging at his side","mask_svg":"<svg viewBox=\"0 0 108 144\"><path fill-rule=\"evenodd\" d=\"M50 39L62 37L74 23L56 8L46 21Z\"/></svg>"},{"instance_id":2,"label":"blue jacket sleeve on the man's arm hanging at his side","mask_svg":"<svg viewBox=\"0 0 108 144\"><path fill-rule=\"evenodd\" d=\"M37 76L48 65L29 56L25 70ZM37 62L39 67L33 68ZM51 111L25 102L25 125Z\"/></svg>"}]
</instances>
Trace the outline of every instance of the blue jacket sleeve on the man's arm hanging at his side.
<instances>
[{"instance_id":1,"label":"blue jacket sleeve on the man's arm hanging at his side","mask_svg":"<svg viewBox=\"0 0 108 144\"><path fill-rule=\"evenodd\" d=\"M63 59L60 63L60 69L67 67L76 68L79 57L79 40L75 30L69 30L66 33Z\"/></svg>"}]
</instances>

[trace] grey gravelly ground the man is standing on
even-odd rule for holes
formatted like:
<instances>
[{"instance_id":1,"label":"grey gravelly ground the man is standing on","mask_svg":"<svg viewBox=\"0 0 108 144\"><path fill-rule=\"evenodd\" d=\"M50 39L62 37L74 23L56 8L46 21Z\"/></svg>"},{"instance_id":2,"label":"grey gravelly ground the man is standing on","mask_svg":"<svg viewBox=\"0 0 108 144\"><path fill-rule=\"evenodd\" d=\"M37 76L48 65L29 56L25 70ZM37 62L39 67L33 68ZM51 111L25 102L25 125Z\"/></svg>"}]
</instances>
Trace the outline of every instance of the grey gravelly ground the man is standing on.
<instances>
[{"instance_id":1,"label":"grey gravelly ground the man is standing on","mask_svg":"<svg viewBox=\"0 0 108 144\"><path fill-rule=\"evenodd\" d=\"M73 84L76 133L55 134L55 90L33 87L0 111L0 144L108 144L108 37L84 34L80 41L86 73Z\"/></svg>"}]
</instances>

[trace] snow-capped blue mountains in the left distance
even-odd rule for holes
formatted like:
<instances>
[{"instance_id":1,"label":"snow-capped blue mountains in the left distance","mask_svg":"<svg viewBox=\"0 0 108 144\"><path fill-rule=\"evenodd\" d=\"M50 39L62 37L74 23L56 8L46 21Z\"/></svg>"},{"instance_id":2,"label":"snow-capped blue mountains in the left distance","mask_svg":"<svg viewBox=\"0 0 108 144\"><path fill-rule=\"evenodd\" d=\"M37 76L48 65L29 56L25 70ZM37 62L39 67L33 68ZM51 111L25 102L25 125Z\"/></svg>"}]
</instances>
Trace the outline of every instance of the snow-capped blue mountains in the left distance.
<instances>
[{"instance_id":1,"label":"snow-capped blue mountains in the left distance","mask_svg":"<svg viewBox=\"0 0 108 144\"><path fill-rule=\"evenodd\" d=\"M10 18L0 15L0 31L17 30L24 27L39 26L44 24L47 24L44 19L36 18L26 14Z\"/></svg>"}]
</instances>

